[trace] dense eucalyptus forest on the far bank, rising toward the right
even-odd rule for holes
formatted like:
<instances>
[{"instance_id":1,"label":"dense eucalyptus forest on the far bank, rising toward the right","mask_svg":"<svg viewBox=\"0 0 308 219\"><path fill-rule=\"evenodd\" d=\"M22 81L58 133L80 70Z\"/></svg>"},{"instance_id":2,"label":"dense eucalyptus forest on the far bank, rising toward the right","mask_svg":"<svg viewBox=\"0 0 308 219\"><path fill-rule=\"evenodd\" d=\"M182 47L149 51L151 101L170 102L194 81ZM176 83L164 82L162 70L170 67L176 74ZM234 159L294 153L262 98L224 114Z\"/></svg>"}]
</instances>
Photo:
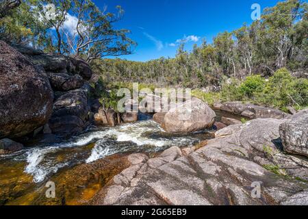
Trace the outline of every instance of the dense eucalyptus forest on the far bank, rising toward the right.
<instances>
[{"instance_id":1,"label":"dense eucalyptus forest on the far bank, rising toward the right","mask_svg":"<svg viewBox=\"0 0 308 219\"><path fill-rule=\"evenodd\" d=\"M92 65L103 81L154 83L189 88L220 87L229 77L243 79L258 74L270 77L287 68L307 77L308 4L288 0L266 8L260 21L218 34L213 43L203 40L185 51L185 42L175 58L149 62L120 59L95 60Z\"/></svg>"}]
</instances>

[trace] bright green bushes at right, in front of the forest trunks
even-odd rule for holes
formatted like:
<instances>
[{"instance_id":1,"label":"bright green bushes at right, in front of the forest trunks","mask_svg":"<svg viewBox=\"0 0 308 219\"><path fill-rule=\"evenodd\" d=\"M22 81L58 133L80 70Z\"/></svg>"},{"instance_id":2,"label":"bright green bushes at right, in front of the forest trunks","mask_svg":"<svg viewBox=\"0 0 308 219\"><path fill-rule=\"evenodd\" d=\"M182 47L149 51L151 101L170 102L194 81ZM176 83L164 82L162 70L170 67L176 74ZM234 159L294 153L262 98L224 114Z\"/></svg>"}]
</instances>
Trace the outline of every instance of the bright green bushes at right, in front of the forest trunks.
<instances>
[{"instance_id":1,"label":"bright green bushes at right, in front of the forest trunks","mask_svg":"<svg viewBox=\"0 0 308 219\"><path fill-rule=\"evenodd\" d=\"M292 77L286 68L277 70L268 80L254 75L240 82L232 79L221 91L222 101L247 101L287 112L308 106L308 79Z\"/></svg>"}]
</instances>

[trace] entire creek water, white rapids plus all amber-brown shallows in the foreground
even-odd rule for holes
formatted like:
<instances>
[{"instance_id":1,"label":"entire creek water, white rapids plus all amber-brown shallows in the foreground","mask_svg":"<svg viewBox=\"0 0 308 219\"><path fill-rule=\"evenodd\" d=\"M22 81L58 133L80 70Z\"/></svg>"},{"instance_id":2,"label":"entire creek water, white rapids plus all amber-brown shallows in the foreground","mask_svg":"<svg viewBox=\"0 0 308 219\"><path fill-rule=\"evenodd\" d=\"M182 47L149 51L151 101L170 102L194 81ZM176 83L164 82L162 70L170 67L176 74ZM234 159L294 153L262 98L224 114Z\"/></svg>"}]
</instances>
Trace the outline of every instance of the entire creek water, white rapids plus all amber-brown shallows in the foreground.
<instances>
[{"instance_id":1,"label":"entire creek water, white rapids plus all amber-brown shallows in the foreground","mask_svg":"<svg viewBox=\"0 0 308 219\"><path fill-rule=\"evenodd\" d=\"M216 112L219 118L236 116ZM188 136L164 132L151 116L118 127L91 127L57 144L38 144L0 156L0 205L82 205L129 165L129 153L159 153L170 146L193 146L211 138L205 130ZM46 198L47 181L56 197Z\"/></svg>"}]
</instances>

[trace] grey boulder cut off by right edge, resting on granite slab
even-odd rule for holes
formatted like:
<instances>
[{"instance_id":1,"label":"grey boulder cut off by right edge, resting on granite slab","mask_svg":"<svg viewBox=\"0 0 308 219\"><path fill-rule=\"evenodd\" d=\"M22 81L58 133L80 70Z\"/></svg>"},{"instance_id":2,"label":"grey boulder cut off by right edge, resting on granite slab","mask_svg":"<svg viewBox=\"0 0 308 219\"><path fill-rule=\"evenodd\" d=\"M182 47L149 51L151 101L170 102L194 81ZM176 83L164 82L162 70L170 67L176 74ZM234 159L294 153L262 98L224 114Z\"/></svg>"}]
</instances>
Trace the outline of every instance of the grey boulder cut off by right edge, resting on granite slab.
<instances>
[{"instance_id":1,"label":"grey boulder cut off by right edge, resting on granite slab","mask_svg":"<svg viewBox=\"0 0 308 219\"><path fill-rule=\"evenodd\" d=\"M308 110L282 123L279 133L284 151L308 157Z\"/></svg>"}]
</instances>

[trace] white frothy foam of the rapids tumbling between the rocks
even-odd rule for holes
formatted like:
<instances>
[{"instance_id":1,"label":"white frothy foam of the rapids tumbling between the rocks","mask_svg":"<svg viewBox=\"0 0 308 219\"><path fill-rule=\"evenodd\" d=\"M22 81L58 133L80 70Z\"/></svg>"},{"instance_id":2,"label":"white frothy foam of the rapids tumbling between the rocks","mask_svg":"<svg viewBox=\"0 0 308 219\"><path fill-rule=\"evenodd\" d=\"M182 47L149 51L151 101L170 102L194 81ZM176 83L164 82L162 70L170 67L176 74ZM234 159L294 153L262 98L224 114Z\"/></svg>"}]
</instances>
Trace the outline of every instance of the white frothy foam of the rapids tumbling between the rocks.
<instances>
[{"instance_id":1,"label":"white frothy foam of the rapids tumbling between the rocks","mask_svg":"<svg viewBox=\"0 0 308 219\"><path fill-rule=\"evenodd\" d=\"M57 153L61 151L66 153L63 150L86 146L92 142L95 142L95 144L92 150L88 152L90 155L84 158L86 163L94 162L97 159L116 153L144 151L144 149L158 151L174 145L191 146L196 142L196 138L188 136L168 137L161 134L162 129L153 120L144 120L138 123L129 123L85 133L69 142L30 149L26 153L27 166L25 167L25 172L34 177L34 182L42 182L49 175L70 165L73 159L76 159L75 155L68 154L66 159L59 161L57 160Z\"/></svg>"}]
</instances>

